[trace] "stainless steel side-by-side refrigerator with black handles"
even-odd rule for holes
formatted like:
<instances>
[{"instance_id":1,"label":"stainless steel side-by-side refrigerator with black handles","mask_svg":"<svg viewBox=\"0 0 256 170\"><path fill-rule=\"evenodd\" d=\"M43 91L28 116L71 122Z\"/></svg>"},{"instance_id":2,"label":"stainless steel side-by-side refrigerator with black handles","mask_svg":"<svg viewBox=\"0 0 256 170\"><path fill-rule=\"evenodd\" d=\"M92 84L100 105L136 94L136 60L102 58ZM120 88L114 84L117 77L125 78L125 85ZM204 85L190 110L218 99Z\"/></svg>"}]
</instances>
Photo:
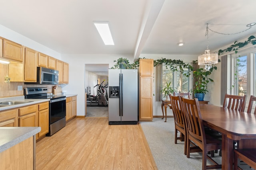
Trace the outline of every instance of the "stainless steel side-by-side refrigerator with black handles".
<instances>
[{"instance_id":1,"label":"stainless steel side-by-side refrigerator with black handles","mask_svg":"<svg viewBox=\"0 0 256 170\"><path fill-rule=\"evenodd\" d=\"M138 70L108 70L108 124L138 123Z\"/></svg>"}]
</instances>

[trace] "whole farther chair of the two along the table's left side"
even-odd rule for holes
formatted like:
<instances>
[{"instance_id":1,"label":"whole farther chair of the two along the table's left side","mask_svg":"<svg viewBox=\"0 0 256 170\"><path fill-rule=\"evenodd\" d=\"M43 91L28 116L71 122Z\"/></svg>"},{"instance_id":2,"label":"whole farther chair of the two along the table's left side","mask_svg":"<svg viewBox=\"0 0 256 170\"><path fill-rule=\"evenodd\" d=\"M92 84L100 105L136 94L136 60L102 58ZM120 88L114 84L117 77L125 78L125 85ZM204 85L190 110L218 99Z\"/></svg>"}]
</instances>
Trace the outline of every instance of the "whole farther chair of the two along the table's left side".
<instances>
[{"instance_id":1,"label":"whole farther chair of the two along the table's left side","mask_svg":"<svg viewBox=\"0 0 256 170\"><path fill-rule=\"evenodd\" d=\"M177 144L177 140L183 140L184 143L184 154L186 154L186 128L184 123L184 115L180 110L180 100L178 96L172 96L170 94L170 100L172 105L172 112L174 116L174 143ZM180 137L178 137L178 131Z\"/></svg>"}]
</instances>

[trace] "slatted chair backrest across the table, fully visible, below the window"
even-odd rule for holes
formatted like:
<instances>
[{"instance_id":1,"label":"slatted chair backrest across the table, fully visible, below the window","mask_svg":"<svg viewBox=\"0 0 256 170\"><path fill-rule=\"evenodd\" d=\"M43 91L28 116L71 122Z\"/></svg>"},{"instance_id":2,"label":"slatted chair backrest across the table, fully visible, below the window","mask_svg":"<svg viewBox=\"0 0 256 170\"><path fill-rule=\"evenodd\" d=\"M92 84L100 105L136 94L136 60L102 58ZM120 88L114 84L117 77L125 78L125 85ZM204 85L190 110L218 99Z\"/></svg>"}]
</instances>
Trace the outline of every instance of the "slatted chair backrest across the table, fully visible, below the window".
<instances>
[{"instance_id":1,"label":"slatted chair backrest across the table, fully visible, below the window","mask_svg":"<svg viewBox=\"0 0 256 170\"><path fill-rule=\"evenodd\" d=\"M223 102L223 107L232 110L244 111L246 104L246 95L236 96L226 94Z\"/></svg>"}]
</instances>

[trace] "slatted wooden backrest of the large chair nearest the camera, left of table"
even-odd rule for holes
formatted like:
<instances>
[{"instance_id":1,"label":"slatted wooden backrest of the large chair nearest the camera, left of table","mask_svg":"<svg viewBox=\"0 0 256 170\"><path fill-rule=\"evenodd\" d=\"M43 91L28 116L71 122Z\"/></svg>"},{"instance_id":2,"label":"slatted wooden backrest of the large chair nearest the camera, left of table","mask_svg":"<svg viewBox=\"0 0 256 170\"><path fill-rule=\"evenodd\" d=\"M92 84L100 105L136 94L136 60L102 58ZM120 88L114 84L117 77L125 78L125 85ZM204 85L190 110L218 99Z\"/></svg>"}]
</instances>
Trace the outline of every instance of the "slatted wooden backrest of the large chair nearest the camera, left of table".
<instances>
[{"instance_id":1,"label":"slatted wooden backrest of the large chair nearest the camera, left of table","mask_svg":"<svg viewBox=\"0 0 256 170\"><path fill-rule=\"evenodd\" d=\"M198 99L181 98L182 112L186 118L186 129L197 145L206 145L204 125Z\"/></svg>"}]
</instances>

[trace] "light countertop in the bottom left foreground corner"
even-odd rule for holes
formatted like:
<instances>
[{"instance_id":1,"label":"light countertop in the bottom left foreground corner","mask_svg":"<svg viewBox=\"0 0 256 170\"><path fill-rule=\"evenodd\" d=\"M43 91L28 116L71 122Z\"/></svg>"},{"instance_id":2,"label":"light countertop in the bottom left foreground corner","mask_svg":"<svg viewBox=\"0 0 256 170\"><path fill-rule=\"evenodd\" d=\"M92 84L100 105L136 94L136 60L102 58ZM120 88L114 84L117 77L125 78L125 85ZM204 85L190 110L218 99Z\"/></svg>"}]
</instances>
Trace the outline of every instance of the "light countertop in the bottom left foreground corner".
<instances>
[{"instance_id":1,"label":"light countertop in the bottom left foreground corner","mask_svg":"<svg viewBox=\"0 0 256 170\"><path fill-rule=\"evenodd\" d=\"M0 152L36 135L41 127L0 127Z\"/></svg>"}]
</instances>

